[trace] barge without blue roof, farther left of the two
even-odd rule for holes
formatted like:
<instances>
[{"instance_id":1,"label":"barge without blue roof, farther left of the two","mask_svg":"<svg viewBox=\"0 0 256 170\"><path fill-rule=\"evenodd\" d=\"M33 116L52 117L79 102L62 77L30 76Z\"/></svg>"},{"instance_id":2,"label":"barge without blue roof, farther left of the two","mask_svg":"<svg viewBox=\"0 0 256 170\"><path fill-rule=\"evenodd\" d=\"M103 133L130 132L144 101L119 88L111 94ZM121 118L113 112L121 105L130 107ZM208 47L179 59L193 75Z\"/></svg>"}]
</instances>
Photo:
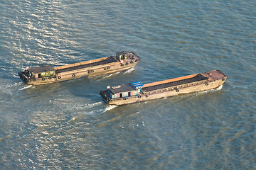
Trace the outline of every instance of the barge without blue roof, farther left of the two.
<instances>
[{"instance_id":1,"label":"barge without blue roof, farther left of the two","mask_svg":"<svg viewBox=\"0 0 256 170\"><path fill-rule=\"evenodd\" d=\"M31 85L52 84L59 81L78 79L80 77L95 77L103 74L124 72L133 68L140 58L134 52L117 52L116 56L103 57L96 60L68 64L60 67L43 65L26 67L18 76Z\"/></svg>"}]
</instances>

